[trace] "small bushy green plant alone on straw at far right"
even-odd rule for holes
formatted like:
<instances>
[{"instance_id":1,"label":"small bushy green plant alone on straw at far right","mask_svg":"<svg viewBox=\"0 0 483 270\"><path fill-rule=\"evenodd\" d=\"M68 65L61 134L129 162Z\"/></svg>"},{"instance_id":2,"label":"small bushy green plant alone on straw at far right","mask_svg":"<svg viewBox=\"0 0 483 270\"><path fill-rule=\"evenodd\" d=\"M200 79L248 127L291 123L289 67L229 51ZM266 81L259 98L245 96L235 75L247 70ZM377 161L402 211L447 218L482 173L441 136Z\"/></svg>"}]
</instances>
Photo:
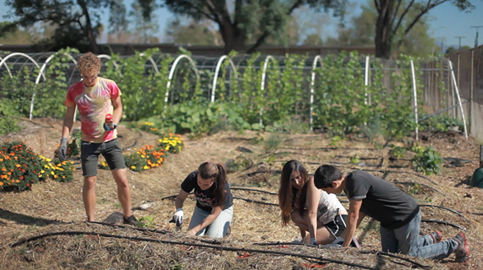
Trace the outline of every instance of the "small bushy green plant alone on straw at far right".
<instances>
[{"instance_id":1,"label":"small bushy green plant alone on straw at far right","mask_svg":"<svg viewBox=\"0 0 483 270\"><path fill-rule=\"evenodd\" d=\"M444 160L432 147L415 147L416 155L412 158L414 170L425 175L434 175L440 172Z\"/></svg>"}]
</instances>

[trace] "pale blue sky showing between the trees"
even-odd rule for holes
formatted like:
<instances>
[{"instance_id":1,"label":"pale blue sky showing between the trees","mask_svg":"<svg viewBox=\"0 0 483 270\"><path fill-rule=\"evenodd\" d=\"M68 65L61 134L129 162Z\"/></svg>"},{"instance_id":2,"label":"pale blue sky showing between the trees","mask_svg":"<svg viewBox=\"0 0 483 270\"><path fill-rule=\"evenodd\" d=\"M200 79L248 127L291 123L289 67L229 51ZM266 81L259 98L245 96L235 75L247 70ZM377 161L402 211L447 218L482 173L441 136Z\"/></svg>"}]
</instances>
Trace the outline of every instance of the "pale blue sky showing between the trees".
<instances>
[{"instance_id":1,"label":"pale blue sky showing between the trees","mask_svg":"<svg viewBox=\"0 0 483 270\"><path fill-rule=\"evenodd\" d=\"M4 1L0 0L0 21L5 21L3 15L7 14L8 8L5 6ZM131 5L133 0L125 0L126 7ZM349 15L356 16L360 14L360 5L365 4L368 0L349 0L349 2L355 3L353 12ZM483 0L472 0L471 3L475 5L475 9L471 13L460 12L451 1L445 2L429 12L429 25L430 35L438 40L438 44L443 42L444 48L448 46L459 46L459 40L456 36L464 36L461 38L461 46L468 45L474 46L476 29L470 26L482 26L479 29L478 45L483 44ZM157 20L160 29L160 40L164 39L165 28L168 25L170 19L174 16L167 9L160 8L156 10ZM107 25L108 13L103 16L102 23ZM337 29L337 20L331 19L327 22L327 26L324 26L325 37L335 36ZM105 37L101 40L105 41Z\"/></svg>"}]
</instances>

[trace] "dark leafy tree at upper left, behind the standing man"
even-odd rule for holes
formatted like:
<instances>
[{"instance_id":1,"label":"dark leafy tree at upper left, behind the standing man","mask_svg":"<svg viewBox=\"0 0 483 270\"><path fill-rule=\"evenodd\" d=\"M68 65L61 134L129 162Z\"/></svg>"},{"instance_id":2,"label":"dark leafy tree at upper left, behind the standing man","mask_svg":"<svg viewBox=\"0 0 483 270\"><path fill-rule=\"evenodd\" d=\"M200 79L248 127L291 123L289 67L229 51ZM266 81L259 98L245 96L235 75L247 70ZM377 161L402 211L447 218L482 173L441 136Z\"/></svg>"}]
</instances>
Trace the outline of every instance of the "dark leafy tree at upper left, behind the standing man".
<instances>
[{"instance_id":1,"label":"dark leafy tree at upper left, behind the standing man","mask_svg":"<svg viewBox=\"0 0 483 270\"><path fill-rule=\"evenodd\" d=\"M54 35L41 42L45 50L70 46L98 53L96 38L102 30L100 8L114 10L112 27L122 24L125 15L119 13L124 5L121 0L5 0L5 5L13 8L7 17L18 18L13 26L28 27L43 22L56 27Z\"/></svg>"}]
</instances>

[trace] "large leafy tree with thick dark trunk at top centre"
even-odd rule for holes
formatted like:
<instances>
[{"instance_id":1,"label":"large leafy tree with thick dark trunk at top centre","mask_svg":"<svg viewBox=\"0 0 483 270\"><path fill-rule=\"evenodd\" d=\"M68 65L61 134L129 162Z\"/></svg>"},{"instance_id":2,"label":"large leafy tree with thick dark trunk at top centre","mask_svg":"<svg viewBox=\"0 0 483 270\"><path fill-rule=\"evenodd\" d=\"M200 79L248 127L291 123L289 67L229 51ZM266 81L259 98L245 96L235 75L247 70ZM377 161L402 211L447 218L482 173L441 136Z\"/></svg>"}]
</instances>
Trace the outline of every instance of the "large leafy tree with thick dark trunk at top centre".
<instances>
[{"instance_id":1,"label":"large leafy tree with thick dark trunk at top centre","mask_svg":"<svg viewBox=\"0 0 483 270\"><path fill-rule=\"evenodd\" d=\"M154 0L138 0L152 2ZM283 31L290 15L303 5L316 9L334 9L343 15L346 0L161 0L162 5L179 15L196 21L213 21L225 44L231 50L253 53L269 36ZM249 40L255 40L248 44ZM248 46L249 45L249 46Z\"/></svg>"}]
</instances>

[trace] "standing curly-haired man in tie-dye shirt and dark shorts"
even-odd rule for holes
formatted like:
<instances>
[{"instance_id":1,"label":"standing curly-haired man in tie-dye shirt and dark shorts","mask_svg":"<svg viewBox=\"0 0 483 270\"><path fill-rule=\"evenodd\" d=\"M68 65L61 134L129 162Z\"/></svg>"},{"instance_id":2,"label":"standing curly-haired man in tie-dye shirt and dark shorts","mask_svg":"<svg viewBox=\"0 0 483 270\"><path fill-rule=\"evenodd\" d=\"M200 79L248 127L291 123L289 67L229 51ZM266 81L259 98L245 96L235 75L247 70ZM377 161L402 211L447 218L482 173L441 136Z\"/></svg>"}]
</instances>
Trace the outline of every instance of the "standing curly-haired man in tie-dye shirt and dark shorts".
<instances>
[{"instance_id":1,"label":"standing curly-haired man in tie-dye shirt and dark shorts","mask_svg":"<svg viewBox=\"0 0 483 270\"><path fill-rule=\"evenodd\" d=\"M114 81L98 76L100 65L100 59L92 53L83 54L79 59L77 66L83 80L71 85L67 91L64 101L67 111L58 149L59 158L65 159L67 138L71 133L77 106L82 130L82 196L88 221L95 221L97 165L99 154L102 154L117 184L117 195L124 210L124 223L137 225L131 213L126 161L117 141L116 126L122 116L121 91ZM112 114L114 123L111 125L105 123L108 114Z\"/></svg>"}]
</instances>

